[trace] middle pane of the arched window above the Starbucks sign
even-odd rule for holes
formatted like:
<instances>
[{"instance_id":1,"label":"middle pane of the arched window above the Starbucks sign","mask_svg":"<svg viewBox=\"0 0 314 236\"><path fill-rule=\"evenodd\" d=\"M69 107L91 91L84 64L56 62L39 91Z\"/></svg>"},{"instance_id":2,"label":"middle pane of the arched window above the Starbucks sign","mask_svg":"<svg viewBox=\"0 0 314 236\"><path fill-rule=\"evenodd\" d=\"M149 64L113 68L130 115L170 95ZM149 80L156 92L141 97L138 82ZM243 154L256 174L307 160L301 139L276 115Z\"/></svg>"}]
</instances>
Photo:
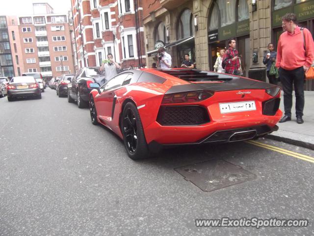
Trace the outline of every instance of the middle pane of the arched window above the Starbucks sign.
<instances>
[{"instance_id":1,"label":"middle pane of the arched window above the Starbucks sign","mask_svg":"<svg viewBox=\"0 0 314 236\"><path fill-rule=\"evenodd\" d=\"M221 27L235 23L235 0L219 0L217 1L220 10Z\"/></svg>"}]
</instances>

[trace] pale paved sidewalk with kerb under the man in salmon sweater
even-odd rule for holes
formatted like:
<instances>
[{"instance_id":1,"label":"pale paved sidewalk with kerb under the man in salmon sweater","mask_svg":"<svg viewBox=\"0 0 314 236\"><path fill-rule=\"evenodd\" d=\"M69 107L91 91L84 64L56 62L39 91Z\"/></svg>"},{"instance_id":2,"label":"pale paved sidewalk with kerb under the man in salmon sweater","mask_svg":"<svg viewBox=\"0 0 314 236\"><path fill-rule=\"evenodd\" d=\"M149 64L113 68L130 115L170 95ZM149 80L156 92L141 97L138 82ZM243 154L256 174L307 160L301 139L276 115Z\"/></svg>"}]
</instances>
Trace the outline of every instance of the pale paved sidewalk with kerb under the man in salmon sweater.
<instances>
[{"instance_id":1,"label":"pale paved sidewalk with kerb under the man in salmon sweater","mask_svg":"<svg viewBox=\"0 0 314 236\"><path fill-rule=\"evenodd\" d=\"M304 123L298 124L295 117L295 96L293 91L293 106L291 121L278 123L279 130L273 132L266 137L277 141L310 148L314 150L314 91L304 91ZM285 113L284 109L284 92L281 92L280 109Z\"/></svg>"}]
</instances>

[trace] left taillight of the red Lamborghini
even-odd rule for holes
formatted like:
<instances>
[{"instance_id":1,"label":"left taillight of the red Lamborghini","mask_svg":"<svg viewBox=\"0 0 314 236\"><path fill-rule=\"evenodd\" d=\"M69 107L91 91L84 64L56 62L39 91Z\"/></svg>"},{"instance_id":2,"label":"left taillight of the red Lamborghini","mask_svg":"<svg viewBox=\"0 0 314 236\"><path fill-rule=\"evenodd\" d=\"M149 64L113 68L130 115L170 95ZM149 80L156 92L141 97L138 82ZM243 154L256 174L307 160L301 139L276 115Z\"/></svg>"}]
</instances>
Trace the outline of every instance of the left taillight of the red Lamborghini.
<instances>
[{"instance_id":1,"label":"left taillight of the red Lamborghini","mask_svg":"<svg viewBox=\"0 0 314 236\"><path fill-rule=\"evenodd\" d=\"M164 95L161 103L184 103L184 102L199 102L211 97L214 93L209 91L199 92L181 92Z\"/></svg>"}]
</instances>

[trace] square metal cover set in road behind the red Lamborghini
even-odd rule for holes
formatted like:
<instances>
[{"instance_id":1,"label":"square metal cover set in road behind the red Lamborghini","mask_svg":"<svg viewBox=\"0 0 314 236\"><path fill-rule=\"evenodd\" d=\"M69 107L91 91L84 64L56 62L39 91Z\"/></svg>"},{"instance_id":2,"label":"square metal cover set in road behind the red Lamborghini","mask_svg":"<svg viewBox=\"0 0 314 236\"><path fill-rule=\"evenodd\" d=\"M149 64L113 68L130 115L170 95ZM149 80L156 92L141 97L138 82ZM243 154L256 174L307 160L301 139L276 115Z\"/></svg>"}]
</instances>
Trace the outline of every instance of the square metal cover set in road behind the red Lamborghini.
<instances>
[{"instance_id":1,"label":"square metal cover set in road behind the red Lamborghini","mask_svg":"<svg viewBox=\"0 0 314 236\"><path fill-rule=\"evenodd\" d=\"M220 159L175 168L175 171L205 192L256 178L253 173Z\"/></svg>"}]
</instances>

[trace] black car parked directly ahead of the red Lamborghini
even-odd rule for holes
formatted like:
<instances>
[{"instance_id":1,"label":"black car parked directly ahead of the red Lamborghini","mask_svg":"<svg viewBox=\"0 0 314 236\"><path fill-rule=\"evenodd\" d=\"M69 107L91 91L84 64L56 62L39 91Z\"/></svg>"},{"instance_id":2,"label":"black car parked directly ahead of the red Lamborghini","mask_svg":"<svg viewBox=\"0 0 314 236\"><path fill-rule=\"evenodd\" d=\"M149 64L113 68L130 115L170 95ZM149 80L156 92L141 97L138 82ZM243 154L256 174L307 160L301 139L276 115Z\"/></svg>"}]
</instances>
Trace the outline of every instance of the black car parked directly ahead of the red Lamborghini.
<instances>
[{"instance_id":1,"label":"black car parked directly ahead of the red Lamborghini","mask_svg":"<svg viewBox=\"0 0 314 236\"><path fill-rule=\"evenodd\" d=\"M80 68L71 83L68 85L68 102L78 101L78 107L84 108L88 105L91 83L105 84L105 74L99 67L83 67Z\"/></svg>"}]
</instances>

